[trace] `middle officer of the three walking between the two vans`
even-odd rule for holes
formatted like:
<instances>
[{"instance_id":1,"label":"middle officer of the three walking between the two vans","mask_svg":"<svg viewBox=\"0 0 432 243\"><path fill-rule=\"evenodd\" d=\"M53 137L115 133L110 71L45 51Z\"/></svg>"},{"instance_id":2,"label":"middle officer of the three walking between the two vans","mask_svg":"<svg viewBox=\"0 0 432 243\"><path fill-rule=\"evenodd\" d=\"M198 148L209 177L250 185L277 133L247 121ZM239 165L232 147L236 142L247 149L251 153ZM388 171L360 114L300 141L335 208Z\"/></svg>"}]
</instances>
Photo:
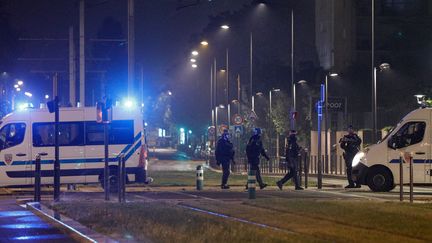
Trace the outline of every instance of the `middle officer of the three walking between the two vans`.
<instances>
[{"instance_id":1,"label":"middle officer of the three walking between the two vans","mask_svg":"<svg viewBox=\"0 0 432 243\"><path fill-rule=\"evenodd\" d=\"M255 128L254 134L249 139L249 142L246 146L246 156L248 159L248 163L250 165L250 169L255 170L256 172L256 180L260 186L260 189L264 189L267 186L267 184L264 183L261 178L261 171L259 168L260 155L264 156L267 159L267 161L270 160L270 158L267 156L265 152L265 149L261 141L261 128ZM248 186L246 184L246 189L247 188Z\"/></svg>"}]
</instances>

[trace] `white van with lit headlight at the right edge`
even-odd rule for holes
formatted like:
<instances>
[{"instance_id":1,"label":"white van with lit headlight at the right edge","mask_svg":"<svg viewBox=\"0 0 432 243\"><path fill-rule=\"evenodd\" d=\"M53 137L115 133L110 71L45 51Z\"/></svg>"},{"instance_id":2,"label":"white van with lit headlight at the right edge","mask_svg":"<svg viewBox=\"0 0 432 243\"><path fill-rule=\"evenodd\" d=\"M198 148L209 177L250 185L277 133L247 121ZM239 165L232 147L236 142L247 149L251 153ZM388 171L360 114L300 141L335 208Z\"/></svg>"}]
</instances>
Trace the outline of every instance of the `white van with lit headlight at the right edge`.
<instances>
[{"instance_id":1,"label":"white van with lit headlight at the right edge","mask_svg":"<svg viewBox=\"0 0 432 243\"><path fill-rule=\"evenodd\" d=\"M432 183L431 122L431 108L410 112L378 144L356 154L352 162L353 180L368 185L372 191L390 191L399 184L401 152L410 152L414 183ZM403 165L403 179L404 183L409 182L409 164Z\"/></svg>"}]
</instances>

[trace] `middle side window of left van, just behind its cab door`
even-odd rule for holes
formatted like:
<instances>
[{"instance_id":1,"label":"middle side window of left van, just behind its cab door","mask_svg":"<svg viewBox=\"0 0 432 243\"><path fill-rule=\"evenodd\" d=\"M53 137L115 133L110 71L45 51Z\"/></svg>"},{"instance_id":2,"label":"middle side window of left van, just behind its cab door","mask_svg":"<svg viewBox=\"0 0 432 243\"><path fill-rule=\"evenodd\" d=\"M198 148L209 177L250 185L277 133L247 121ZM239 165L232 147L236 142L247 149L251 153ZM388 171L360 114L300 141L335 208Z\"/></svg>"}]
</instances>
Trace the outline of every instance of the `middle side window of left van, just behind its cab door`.
<instances>
[{"instance_id":1,"label":"middle side window of left van, just behind its cab door","mask_svg":"<svg viewBox=\"0 0 432 243\"><path fill-rule=\"evenodd\" d=\"M33 146L55 146L54 129L53 122L34 123ZM59 145L84 145L84 124L82 122L61 122L59 124Z\"/></svg>"}]
</instances>

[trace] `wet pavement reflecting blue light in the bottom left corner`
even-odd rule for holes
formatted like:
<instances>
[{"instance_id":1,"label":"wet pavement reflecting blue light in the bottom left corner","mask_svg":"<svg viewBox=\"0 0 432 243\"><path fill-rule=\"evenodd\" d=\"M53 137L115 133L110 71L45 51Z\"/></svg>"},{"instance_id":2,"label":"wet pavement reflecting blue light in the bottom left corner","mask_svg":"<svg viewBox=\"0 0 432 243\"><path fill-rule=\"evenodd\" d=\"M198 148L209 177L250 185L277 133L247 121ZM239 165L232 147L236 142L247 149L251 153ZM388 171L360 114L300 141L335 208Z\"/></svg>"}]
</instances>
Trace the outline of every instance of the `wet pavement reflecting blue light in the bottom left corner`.
<instances>
[{"instance_id":1,"label":"wet pavement reflecting blue light in the bottom left corner","mask_svg":"<svg viewBox=\"0 0 432 243\"><path fill-rule=\"evenodd\" d=\"M0 198L0 242L76 242L13 199Z\"/></svg>"}]
</instances>

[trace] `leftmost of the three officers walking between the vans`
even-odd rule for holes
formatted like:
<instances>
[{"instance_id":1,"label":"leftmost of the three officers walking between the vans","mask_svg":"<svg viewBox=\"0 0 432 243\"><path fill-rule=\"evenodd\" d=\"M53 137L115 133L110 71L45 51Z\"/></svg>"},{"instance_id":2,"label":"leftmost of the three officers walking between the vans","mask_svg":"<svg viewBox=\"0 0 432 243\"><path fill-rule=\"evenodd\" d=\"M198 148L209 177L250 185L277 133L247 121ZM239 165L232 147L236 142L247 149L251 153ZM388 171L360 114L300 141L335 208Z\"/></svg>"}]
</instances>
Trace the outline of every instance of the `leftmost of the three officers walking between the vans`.
<instances>
[{"instance_id":1,"label":"leftmost of the three officers walking between the vans","mask_svg":"<svg viewBox=\"0 0 432 243\"><path fill-rule=\"evenodd\" d=\"M230 175L230 162L232 161L234 164L234 146L229 139L230 135L228 130L224 130L222 136L217 141L215 151L217 165L222 165L223 171L221 189L230 188L227 185Z\"/></svg>"}]
</instances>

